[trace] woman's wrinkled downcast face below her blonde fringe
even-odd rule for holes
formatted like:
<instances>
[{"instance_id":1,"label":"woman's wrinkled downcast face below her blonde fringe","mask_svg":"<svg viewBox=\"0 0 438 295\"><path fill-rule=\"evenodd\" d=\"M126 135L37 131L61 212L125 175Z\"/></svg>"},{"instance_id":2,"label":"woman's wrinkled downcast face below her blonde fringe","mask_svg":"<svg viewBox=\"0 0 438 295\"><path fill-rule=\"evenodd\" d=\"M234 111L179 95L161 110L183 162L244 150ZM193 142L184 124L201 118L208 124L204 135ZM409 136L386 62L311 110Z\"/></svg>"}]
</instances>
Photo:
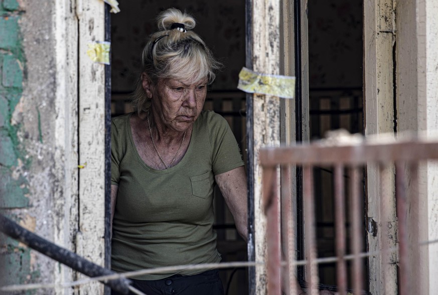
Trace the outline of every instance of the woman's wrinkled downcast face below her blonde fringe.
<instances>
[{"instance_id":1,"label":"woman's wrinkled downcast face below her blonde fringe","mask_svg":"<svg viewBox=\"0 0 438 295\"><path fill-rule=\"evenodd\" d=\"M154 115L158 116L156 122L175 131L185 131L204 107L207 78L198 81L160 79L150 88Z\"/></svg>"}]
</instances>

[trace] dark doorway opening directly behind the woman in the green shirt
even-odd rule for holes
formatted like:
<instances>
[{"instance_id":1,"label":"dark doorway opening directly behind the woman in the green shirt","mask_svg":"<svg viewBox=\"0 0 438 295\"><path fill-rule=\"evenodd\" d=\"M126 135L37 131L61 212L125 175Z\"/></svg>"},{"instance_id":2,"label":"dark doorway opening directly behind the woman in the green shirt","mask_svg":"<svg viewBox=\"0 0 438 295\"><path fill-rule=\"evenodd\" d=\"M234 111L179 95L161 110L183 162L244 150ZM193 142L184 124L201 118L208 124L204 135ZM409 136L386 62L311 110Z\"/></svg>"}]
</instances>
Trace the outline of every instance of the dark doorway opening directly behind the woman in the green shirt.
<instances>
[{"instance_id":1,"label":"dark doorway opening directly behind the woman in the green shirt","mask_svg":"<svg viewBox=\"0 0 438 295\"><path fill-rule=\"evenodd\" d=\"M111 16L111 115L133 111L130 95L140 74L140 56L148 36L157 31L158 13L175 7L193 15L198 33L224 65L208 91L204 109L214 110L229 123L246 163L245 94L237 90L245 65L245 1L182 2L169 0L120 2ZM231 213L215 190L217 248L222 262L247 260L246 243L237 234ZM246 268L220 270L225 294L248 293Z\"/></svg>"}]
</instances>

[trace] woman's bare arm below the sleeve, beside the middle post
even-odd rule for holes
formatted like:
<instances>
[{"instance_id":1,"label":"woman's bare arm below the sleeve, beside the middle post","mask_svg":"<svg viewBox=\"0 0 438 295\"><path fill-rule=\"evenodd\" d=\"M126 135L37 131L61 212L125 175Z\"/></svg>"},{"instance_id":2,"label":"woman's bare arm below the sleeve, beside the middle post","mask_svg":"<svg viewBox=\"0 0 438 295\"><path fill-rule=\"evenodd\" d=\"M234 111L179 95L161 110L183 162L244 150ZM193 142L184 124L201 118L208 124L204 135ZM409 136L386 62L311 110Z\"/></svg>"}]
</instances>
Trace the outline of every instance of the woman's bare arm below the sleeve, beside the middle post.
<instances>
[{"instance_id":1,"label":"woman's bare arm below the sleeve, beside the middle post","mask_svg":"<svg viewBox=\"0 0 438 295\"><path fill-rule=\"evenodd\" d=\"M216 183L234 218L237 232L248 241L248 206L244 166L215 176Z\"/></svg>"}]
</instances>

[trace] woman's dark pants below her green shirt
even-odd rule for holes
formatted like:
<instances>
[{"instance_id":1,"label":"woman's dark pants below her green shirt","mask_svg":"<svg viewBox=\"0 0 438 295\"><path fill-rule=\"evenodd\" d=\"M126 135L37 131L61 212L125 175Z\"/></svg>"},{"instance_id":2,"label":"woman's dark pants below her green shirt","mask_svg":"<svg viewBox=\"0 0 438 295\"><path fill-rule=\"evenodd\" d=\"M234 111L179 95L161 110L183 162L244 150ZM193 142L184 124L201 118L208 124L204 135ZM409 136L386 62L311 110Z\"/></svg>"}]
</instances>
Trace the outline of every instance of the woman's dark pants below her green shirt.
<instances>
[{"instance_id":1,"label":"woman's dark pants below her green shirt","mask_svg":"<svg viewBox=\"0 0 438 295\"><path fill-rule=\"evenodd\" d=\"M219 271L209 270L194 275L175 274L158 280L131 279L132 286L147 295L223 295ZM111 295L121 295L112 291ZM129 295L134 295L130 292Z\"/></svg>"}]
</instances>

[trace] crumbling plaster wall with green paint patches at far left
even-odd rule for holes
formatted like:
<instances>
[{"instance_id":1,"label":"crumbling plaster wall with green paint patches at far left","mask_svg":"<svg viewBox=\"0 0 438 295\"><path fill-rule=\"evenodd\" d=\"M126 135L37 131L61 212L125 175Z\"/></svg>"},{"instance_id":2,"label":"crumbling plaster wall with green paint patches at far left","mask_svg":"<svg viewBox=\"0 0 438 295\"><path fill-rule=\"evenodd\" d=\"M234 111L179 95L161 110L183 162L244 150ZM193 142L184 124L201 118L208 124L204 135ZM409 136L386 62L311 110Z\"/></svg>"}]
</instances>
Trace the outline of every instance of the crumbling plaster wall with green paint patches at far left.
<instances>
[{"instance_id":1,"label":"crumbling plaster wall with green paint patches at far left","mask_svg":"<svg viewBox=\"0 0 438 295\"><path fill-rule=\"evenodd\" d=\"M60 6L69 1L61 2L0 1L0 210L72 249L77 158L71 126L77 115L70 109L76 102L62 95L74 81L66 85L68 80L60 72L69 58L60 54L65 44L60 46L57 24L66 22L59 21ZM52 283L72 276L57 262L4 236L0 261L1 284ZM29 291L60 292L64 293Z\"/></svg>"}]
</instances>

